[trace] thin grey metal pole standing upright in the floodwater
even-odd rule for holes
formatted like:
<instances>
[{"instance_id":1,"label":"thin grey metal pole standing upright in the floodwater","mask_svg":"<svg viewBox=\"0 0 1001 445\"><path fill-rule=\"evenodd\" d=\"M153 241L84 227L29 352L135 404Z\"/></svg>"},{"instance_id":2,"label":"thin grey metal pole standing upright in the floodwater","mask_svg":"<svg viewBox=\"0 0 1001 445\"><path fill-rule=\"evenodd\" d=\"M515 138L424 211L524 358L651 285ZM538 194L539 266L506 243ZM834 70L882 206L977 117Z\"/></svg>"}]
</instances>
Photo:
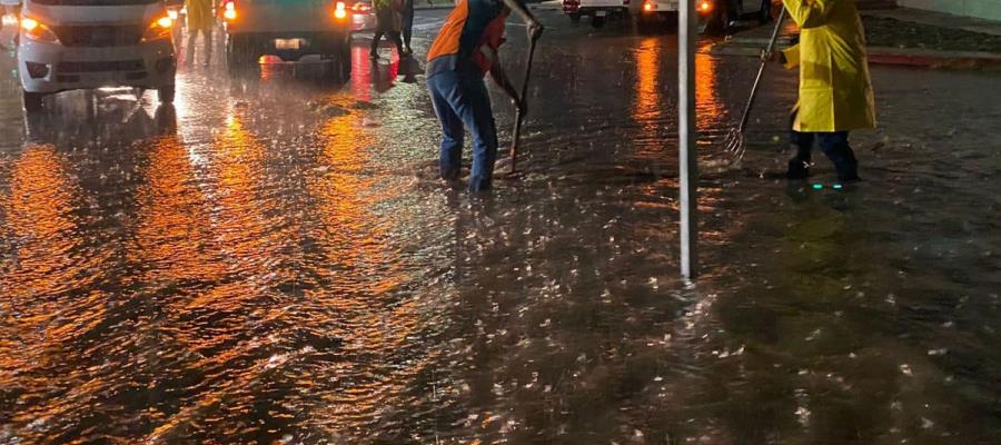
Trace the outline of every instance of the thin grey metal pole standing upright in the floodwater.
<instances>
[{"instance_id":1,"label":"thin grey metal pole standing upright in the floodwater","mask_svg":"<svg viewBox=\"0 0 1001 445\"><path fill-rule=\"evenodd\" d=\"M682 0L677 14L678 191L681 198L681 271L698 276L698 162L695 152L695 0Z\"/></svg>"}]
</instances>

